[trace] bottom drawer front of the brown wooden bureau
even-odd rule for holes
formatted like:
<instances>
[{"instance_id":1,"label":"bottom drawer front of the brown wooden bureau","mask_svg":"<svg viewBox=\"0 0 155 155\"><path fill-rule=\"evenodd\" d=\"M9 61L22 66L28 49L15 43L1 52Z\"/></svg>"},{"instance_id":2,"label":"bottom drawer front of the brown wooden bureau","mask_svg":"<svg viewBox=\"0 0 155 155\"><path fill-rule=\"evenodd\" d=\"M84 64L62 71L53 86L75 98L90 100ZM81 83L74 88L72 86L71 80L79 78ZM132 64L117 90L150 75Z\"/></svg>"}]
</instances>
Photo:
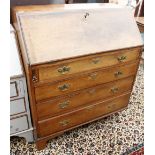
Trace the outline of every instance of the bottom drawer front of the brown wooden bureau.
<instances>
[{"instance_id":1,"label":"bottom drawer front of the brown wooden bureau","mask_svg":"<svg viewBox=\"0 0 155 155\"><path fill-rule=\"evenodd\" d=\"M39 122L39 136L47 136L115 112L128 105L130 94L90 105L78 111Z\"/></svg>"}]
</instances>

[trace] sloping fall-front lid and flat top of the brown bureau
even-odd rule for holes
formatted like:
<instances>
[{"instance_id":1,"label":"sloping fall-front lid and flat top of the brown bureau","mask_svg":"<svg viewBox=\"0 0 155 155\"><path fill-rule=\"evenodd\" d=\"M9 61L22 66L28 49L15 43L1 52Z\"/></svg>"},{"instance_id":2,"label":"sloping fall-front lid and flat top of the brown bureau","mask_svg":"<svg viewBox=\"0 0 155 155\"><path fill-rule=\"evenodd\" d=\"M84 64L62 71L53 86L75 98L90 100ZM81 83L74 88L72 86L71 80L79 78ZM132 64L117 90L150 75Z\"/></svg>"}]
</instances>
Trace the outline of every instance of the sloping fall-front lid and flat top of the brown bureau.
<instances>
[{"instance_id":1,"label":"sloping fall-front lid and flat top of the brown bureau","mask_svg":"<svg viewBox=\"0 0 155 155\"><path fill-rule=\"evenodd\" d=\"M68 4L16 7L14 13L31 65L142 45L129 8Z\"/></svg>"}]
</instances>

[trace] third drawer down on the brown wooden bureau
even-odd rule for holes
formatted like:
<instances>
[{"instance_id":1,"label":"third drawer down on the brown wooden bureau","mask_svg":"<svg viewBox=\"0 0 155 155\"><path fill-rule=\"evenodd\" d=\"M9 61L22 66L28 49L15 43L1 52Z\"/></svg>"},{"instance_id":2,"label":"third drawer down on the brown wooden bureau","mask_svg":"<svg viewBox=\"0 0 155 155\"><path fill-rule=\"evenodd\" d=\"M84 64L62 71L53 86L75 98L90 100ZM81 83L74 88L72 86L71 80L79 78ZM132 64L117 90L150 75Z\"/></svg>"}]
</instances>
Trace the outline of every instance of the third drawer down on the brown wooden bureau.
<instances>
[{"instance_id":1,"label":"third drawer down on the brown wooden bureau","mask_svg":"<svg viewBox=\"0 0 155 155\"><path fill-rule=\"evenodd\" d=\"M101 100L113 95L121 95L123 92L132 89L134 77L128 77L122 80L99 85L90 89L72 93L61 99L41 102L37 104L38 118L44 119L50 116L63 114L72 111L74 108L85 104ZM80 102L79 102L80 99Z\"/></svg>"}]
</instances>

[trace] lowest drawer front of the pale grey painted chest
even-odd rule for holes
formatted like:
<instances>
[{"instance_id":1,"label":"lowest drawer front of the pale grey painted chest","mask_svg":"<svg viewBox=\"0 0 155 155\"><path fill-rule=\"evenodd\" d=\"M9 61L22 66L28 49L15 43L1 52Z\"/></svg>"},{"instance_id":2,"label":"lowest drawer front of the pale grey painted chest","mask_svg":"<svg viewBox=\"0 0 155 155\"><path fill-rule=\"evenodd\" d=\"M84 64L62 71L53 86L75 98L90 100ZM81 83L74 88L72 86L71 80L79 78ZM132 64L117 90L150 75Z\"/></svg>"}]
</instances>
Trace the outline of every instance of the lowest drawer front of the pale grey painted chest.
<instances>
[{"instance_id":1,"label":"lowest drawer front of the pale grey painted chest","mask_svg":"<svg viewBox=\"0 0 155 155\"><path fill-rule=\"evenodd\" d=\"M16 133L29 128L27 115L10 120L10 133Z\"/></svg>"}]
</instances>

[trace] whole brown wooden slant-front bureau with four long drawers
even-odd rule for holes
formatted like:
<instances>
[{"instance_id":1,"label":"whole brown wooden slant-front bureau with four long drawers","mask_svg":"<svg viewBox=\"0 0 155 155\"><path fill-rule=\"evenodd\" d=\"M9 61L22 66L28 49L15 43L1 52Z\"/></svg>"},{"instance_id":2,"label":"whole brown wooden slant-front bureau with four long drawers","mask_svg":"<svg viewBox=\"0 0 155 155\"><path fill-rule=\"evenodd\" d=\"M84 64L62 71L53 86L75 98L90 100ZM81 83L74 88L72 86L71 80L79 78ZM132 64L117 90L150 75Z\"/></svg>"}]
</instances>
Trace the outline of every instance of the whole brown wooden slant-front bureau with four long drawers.
<instances>
[{"instance_id":1,"label":"whole brown wooden slant-front bureau with four long drawers","mask_svg":"<svg viewBox=\"0 0 155 155\"><path fill-rule=\"evenodd\" d=\"M128 8L13 8L38 149L65 131L127 107L142 40Z\"/></svg>"}]
</instances>

